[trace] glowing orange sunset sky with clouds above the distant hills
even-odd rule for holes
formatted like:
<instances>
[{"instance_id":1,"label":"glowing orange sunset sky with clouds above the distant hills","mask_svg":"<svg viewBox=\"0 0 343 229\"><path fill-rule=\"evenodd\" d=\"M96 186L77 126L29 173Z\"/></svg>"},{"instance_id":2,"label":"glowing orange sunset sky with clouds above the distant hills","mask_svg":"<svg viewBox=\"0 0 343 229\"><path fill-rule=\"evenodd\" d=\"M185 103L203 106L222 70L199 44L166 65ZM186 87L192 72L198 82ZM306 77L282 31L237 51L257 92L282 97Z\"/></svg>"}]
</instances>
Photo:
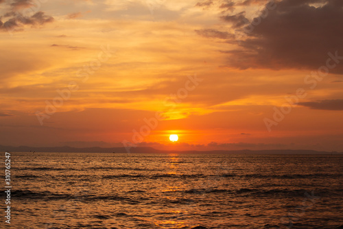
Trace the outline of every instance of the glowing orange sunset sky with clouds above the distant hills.
<instances>
[{"instance_id":1,"label":"glowing orange sunset sky with clouds above the distant hills","mask_svg":"<svg viewBox=\"0 0 343 229\"><path fill-rule=\"evenodd\" d=\"M0 0L0 144L343 151L342 21L340 0Z\"/></svg>"}]
</instances>

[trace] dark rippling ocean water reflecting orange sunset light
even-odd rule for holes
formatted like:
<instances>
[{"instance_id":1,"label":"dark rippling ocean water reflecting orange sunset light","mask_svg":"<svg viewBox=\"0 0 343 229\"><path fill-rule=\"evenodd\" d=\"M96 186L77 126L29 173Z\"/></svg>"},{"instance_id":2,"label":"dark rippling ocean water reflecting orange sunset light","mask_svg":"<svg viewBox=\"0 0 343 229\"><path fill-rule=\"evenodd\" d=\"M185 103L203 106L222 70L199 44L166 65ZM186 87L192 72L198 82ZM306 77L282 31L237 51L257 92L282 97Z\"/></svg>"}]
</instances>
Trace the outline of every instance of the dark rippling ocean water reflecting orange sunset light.
<instances>
[{"instance_id":1,"label":"dark rippling ocean water reflecting orange sunset light","mask_svg":"<svg viewBox=\"0 0 343 229\"><path fill-rule=\"evenodd\" d=\"M0 228L343 228L343 156L12 153L11 163L11 226Z\"/></svg>"}]
</instances>

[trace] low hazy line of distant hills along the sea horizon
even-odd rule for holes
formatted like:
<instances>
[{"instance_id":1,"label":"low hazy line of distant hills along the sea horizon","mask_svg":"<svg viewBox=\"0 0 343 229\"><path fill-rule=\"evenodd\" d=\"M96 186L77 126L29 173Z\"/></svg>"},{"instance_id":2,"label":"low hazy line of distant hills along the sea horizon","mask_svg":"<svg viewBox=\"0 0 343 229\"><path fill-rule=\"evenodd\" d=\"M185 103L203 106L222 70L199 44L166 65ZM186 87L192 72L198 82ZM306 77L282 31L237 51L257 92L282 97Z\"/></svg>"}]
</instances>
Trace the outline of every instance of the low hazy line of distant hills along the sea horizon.
<instances>
[{"instance_id":1,"label":"low hazy line of distant hills along the sea horizon","mask_svg":"<svg viewBox=\"0 0 343 229\"><path fill-rule=\"evenodd\" d=\"M32 146L2 146L0 152L44 152L44 153L127 153L124 147L102 148L102 147L87 147L75 148L71 146L58 147L32 147ZM132 147L131 153L230 153L230 154L305 154L305 155L343 155L339 152L328 151L312 151L312 150L293 150L293 149L275 149L275 150L239 150L239 151L162 151L152 147Z\"/></svg>"}]
</instances>

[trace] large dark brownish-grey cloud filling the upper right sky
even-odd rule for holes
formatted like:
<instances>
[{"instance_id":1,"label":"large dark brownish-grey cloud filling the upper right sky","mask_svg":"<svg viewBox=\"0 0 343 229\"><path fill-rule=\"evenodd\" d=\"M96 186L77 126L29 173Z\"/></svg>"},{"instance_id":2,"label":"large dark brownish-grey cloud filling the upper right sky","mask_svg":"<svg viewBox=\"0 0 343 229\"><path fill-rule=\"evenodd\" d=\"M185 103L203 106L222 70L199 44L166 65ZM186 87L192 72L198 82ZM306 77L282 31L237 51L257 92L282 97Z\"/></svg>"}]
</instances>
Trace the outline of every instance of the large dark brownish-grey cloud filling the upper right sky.
<instances>
[{"instance_id":1,"label":"large dark brownish-grey cloud filling the upper right sky","mask_svg":"<svg viewBox=\"0 0 343 229\"><path fill-rule=\"evenodd\" d=\"M227 43L237 45L236 49L222 49L228 54L229 67L318 69L325 65L328 52L338 51L343 56L343 1L281 0L274 5L276 8L271 6L259 8L252 18L247 16L251 12L245 11L220 14L230 26L227 32L237 39L227 39ZM331 73L343 73L343 65L337 65Z\"/></svg>"}]
</instances>

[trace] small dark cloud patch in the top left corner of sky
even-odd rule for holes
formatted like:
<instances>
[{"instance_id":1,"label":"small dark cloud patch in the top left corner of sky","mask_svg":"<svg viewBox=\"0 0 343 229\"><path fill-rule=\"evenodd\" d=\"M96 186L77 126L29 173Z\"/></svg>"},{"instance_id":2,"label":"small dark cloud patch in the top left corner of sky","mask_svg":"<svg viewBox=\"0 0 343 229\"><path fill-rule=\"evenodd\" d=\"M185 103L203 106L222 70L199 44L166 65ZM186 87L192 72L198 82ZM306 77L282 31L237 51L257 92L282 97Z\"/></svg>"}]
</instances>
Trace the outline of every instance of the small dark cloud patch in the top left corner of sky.
<instances>
[{"instance_id":1,"label":"small dark cloud patch in the top left corner of sky","mask_svg":"<svg viewBox=\"0 0 343 229\"><path fill-rule=\"evenodd\" d=\"M21 31L25 25L36 26L54 21L53 17L45 15L42 11L35 12L36 6L34 6L32 0L14 0L5 3L10 6L10 11L5 12L0 17L0 30L8 32ZM31 14L28 15L28 12L31 12Z\"/></svg>"}]
</instances>

